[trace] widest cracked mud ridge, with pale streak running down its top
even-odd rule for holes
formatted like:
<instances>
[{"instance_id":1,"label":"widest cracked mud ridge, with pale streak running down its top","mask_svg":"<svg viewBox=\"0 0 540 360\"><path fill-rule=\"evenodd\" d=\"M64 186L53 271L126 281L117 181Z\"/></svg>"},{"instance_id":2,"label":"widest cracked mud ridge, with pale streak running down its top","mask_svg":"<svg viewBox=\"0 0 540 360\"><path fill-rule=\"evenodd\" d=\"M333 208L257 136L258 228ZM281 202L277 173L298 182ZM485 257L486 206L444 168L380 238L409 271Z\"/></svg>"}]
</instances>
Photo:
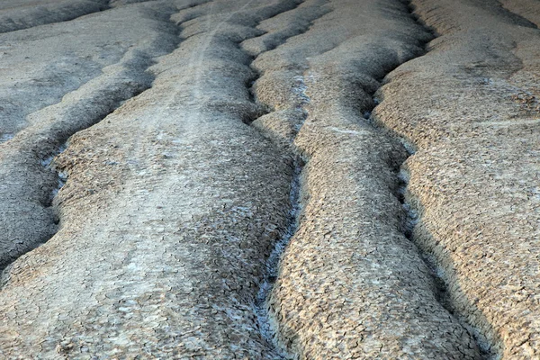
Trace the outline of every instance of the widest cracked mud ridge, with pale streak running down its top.
<instances>
[{"instance_id":1,"label":"widest cracked mud ridge, with pale streak running down its top","mask_svg":"<svg viewBox=\"0 0 540 360\"><path fill-rule=\"evenodd\" d=\"M69 139L55 159L69 175L62 226L4 272L4 354L276 358L253 304L287 227L293 161L245 124L260 106L238 42L295 5L173 16L184 40L150 67L152 87Z\"/></svg>"}]
</instances>

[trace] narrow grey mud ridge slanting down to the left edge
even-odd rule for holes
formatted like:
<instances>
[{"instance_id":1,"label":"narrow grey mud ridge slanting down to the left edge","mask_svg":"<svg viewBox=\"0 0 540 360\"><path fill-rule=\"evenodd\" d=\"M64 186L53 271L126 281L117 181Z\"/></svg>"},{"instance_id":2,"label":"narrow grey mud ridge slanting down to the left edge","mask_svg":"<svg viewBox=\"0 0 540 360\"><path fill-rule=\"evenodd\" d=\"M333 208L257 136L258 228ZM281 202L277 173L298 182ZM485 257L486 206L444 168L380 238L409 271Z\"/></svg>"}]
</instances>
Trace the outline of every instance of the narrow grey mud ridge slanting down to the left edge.
<instances>
[{"instance_id":1,"label":"narrow grey mud ridge slanting down to the left edge","mask_svg":"<svg viewBox=\"0 0 540 360\"><path fill-rule=\"evenodd\" d=\"M164 13L159 17L165 18L160 30L166 31L161 32L160 40L130 49L118 63L104 67L101 76L65 94L61 102L31 113L31 125L2 148L4 207L14 213L33 210L28 212L28 218L2 220L7 231L0 238L0 271L58 231L60 219L54 198L66 183L67 174L55 165L54 157L66 149L67 139L103 121L122 103L148 89L154 80L147 72L153 58L177 47L179 31L166 20L166 11L170 15L172 9L159 10ZM12 203L9 198L14 196L22 199Z\"/></svg>"}]
</instances>

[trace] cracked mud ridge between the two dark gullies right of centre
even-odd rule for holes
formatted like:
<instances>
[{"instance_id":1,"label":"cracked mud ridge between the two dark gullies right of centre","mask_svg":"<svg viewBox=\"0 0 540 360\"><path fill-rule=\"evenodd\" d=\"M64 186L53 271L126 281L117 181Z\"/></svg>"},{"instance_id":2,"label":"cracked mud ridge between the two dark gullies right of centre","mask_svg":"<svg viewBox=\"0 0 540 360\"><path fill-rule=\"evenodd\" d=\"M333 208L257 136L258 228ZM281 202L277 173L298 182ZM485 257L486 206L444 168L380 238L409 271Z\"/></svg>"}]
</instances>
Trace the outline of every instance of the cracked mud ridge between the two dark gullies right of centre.
<instances>
[{"instance_id":1,"label":"cracked mud ridge between the two dark gullies right of centre","mask_svg":"<svg viewBox=\"0 0 540 360\"><path fill-rule=\"evenodd\" d=\"M301 359L482 358L437 302L437 281L404 235L398 192L407 151L361 115L374 108L378 79L422 55L430 35L405 4L356 4L358 14L347 2L327 6L332 12L309 31L253 64L262 74L257 100L274 110L254 126L278 143L293 139L307 161L302 218L269 298L276 344ZM301 106L299 79L310 99Z\"/></svg>"}]
</instances>

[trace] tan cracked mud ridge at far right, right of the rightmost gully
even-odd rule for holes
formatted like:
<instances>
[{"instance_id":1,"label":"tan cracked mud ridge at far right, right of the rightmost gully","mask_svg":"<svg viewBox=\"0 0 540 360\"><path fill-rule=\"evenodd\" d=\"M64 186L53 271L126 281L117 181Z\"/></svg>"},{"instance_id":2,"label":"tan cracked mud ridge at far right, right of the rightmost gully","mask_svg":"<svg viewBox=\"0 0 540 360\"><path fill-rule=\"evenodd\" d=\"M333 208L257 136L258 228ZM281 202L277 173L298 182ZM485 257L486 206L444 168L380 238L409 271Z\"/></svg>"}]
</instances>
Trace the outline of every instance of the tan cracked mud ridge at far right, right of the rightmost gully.
<instances>
[{"instance_id":1,"label":"tan cracked mud ridge at far right, right of the rightmost gully","mask_svg":"<svg viewBox=\"0 0 540 360\"><path fill-rule=\"evenodd\" d=\"M500 3L425 0L429 52L387 76L376 121L417 149L405 198L415 243L437 264L484 356L539 356L537 289L540 32ZM528 20L536 4L501 2ZM528 4L528 5L527 5ZM516 10L518 11L518 10ZM423 96L422 94L429 94Z\"/></svg>"}]
</instances>

